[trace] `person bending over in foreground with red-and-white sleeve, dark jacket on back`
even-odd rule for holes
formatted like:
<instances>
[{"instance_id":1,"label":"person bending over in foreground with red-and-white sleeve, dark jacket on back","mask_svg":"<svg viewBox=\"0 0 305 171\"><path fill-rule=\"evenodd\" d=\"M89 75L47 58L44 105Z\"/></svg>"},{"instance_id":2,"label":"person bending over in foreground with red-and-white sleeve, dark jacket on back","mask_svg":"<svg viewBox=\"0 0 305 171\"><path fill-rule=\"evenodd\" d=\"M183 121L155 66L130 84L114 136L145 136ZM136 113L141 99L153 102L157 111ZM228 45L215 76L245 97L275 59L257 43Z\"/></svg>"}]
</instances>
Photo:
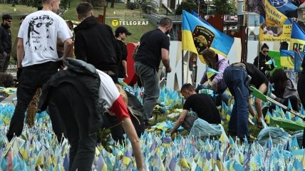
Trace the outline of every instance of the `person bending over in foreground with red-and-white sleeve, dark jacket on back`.
<instances>
[{"instance_id":1,"label":"person bending over in foreground with red-and-white sleeve, dark jacket on back","mask_svg":"<svg viewBox=\"0 0 305 171\"><path fill-rule=\"evenodd\" d=\"M97 130L105 111L123 122L138 170L144 170L138 135L112 78L84 61L73 58L67 61L68 69L56 73L43 86L39 106L45 110L48 102L56 103L71 145L69 170L91 170Z\"/></svg>"}]
</instances>

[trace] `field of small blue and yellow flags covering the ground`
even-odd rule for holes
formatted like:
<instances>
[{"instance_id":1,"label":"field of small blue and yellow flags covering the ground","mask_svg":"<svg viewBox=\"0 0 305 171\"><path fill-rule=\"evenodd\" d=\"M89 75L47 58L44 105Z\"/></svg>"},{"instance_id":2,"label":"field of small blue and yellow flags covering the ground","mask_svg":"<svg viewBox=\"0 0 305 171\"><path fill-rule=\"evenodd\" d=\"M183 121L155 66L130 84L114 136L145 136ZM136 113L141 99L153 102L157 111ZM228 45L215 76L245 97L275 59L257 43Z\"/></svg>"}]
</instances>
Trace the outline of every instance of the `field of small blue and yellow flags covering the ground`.
<instances>
[{"instance_id":1,"label":"field of small blue and yellow flags covering the ground","mask_svg":"<svg viewBox=\"0 0 305 171\"><path fill-rule=\"evenodd\" d=\"M140 88L127 89L141 98ZM161 89L159 100L155 113L162 117L179 111L177 107L182 108L180 95L167 88ZM223 104L220 110L225 125L231 115L232 103ZM35 126L25 126L22 135L9 143L6 131L13 113L14 103L1 103L0 170L6 170L8 162L13 163L14 170L68 170L68 141L57 141L48 114L37 114ZM303 107L299 113L305 115ZM218 138L196 138L179 133L170 137L167 131L174 123L170 118L163 118L163 122L156 123L140 138L146 170L304 170L305 152L299 146L299 137L272 125L280 124L279 120L282 120L286 122L284 125L298 123L302 129L304 123L281 108L267 113L267 125L253 143L239 142L224 131ZM128 139L121 144L110 142L109 147L111 152L101 145L96 147L93 170L135 170Z\"/></svg>"}]
</instances>

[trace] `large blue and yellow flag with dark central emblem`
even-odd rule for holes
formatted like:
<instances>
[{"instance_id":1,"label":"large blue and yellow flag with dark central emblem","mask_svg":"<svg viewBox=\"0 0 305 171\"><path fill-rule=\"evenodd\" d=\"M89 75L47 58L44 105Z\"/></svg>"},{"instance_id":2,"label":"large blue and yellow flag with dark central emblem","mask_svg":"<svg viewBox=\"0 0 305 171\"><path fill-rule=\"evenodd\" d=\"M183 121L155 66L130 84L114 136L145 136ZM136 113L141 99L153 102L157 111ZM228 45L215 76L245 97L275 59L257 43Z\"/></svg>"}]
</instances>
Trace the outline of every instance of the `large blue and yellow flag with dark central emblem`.
<instances>
[{"instance_id":1,"label":"large blue and yellow flag with dark central emblem","mask_svg":"<svg viewBox=\"0 0 305 171\"><path fill-rule=\"evenodd\" d=\"M182 50L196 53L202 63L205 61L200 53L205 48L211 48L215 53L227 56L233 42L234 38L218 31L205 21L200 21L187 11L182 11Z\"/></svg>"}]
</instances>

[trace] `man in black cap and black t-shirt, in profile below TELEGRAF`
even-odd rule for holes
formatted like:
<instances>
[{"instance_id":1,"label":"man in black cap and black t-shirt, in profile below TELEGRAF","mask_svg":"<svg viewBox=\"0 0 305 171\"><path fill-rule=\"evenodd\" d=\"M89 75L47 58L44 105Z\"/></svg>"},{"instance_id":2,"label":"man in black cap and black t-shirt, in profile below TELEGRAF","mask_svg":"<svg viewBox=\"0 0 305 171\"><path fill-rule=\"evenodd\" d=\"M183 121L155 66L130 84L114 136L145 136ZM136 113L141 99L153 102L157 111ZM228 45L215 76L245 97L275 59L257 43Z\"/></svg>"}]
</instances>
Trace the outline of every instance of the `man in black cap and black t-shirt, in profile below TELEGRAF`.
<instances>
[{"instance_id":1,"label":"man in black cap and black t-shirt, in profile below TELEGRAF","mask_svg":"<svg viewBox=\"0 0 305 171\"><path fill-rule=\"evenodd\" d=\"M118 68L118 78L127 78L127 47L123 41L130 36L131 33L127 30L127 28L123 26L119 26L115 29L115 38L118 44L120 45L120 51L122 52L122 56L120 60L120 66Z\"/></svg>"}]
</instances>

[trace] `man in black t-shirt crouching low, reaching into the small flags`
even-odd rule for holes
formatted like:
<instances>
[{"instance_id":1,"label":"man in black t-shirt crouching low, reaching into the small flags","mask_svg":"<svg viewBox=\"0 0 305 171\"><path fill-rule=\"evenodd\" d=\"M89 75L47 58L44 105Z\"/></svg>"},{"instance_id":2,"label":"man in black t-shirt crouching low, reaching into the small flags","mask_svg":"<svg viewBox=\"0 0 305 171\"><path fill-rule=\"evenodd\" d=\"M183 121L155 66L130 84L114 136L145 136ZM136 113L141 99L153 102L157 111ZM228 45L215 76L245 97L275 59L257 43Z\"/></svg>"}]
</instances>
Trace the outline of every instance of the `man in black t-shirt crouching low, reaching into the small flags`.
<instances>
[{"instance_id":1,"label":"man in black t-shirt crouching low, reaching into the small flags","mask_svg":"<svg viewBox=\"0 0 305 171\"><path fill-rule=\"evenodd\" d=\"M180 93L182 93L183 97L186 99L185 104L183 105L182 113L177 120L174 128L170 131L170 133L175 133L177 128L182 125L182 127L185 127L185 125L189 126L189 128L186 128L187 130L192 128L193 122L187 122L187 113L192 110L195 113L197 113L198 118L201 118L202 120L207 121L207 123L212 124L219 124L221 122L220 120L220 113L216 108L216 105L210 95L207 94L197 94L195 92L195 89L190 83L186 83L182 86ZM195 121L195 120L192 120ZM185 123L187 122L187 123Z\"/></svg>"}]
</instances>

